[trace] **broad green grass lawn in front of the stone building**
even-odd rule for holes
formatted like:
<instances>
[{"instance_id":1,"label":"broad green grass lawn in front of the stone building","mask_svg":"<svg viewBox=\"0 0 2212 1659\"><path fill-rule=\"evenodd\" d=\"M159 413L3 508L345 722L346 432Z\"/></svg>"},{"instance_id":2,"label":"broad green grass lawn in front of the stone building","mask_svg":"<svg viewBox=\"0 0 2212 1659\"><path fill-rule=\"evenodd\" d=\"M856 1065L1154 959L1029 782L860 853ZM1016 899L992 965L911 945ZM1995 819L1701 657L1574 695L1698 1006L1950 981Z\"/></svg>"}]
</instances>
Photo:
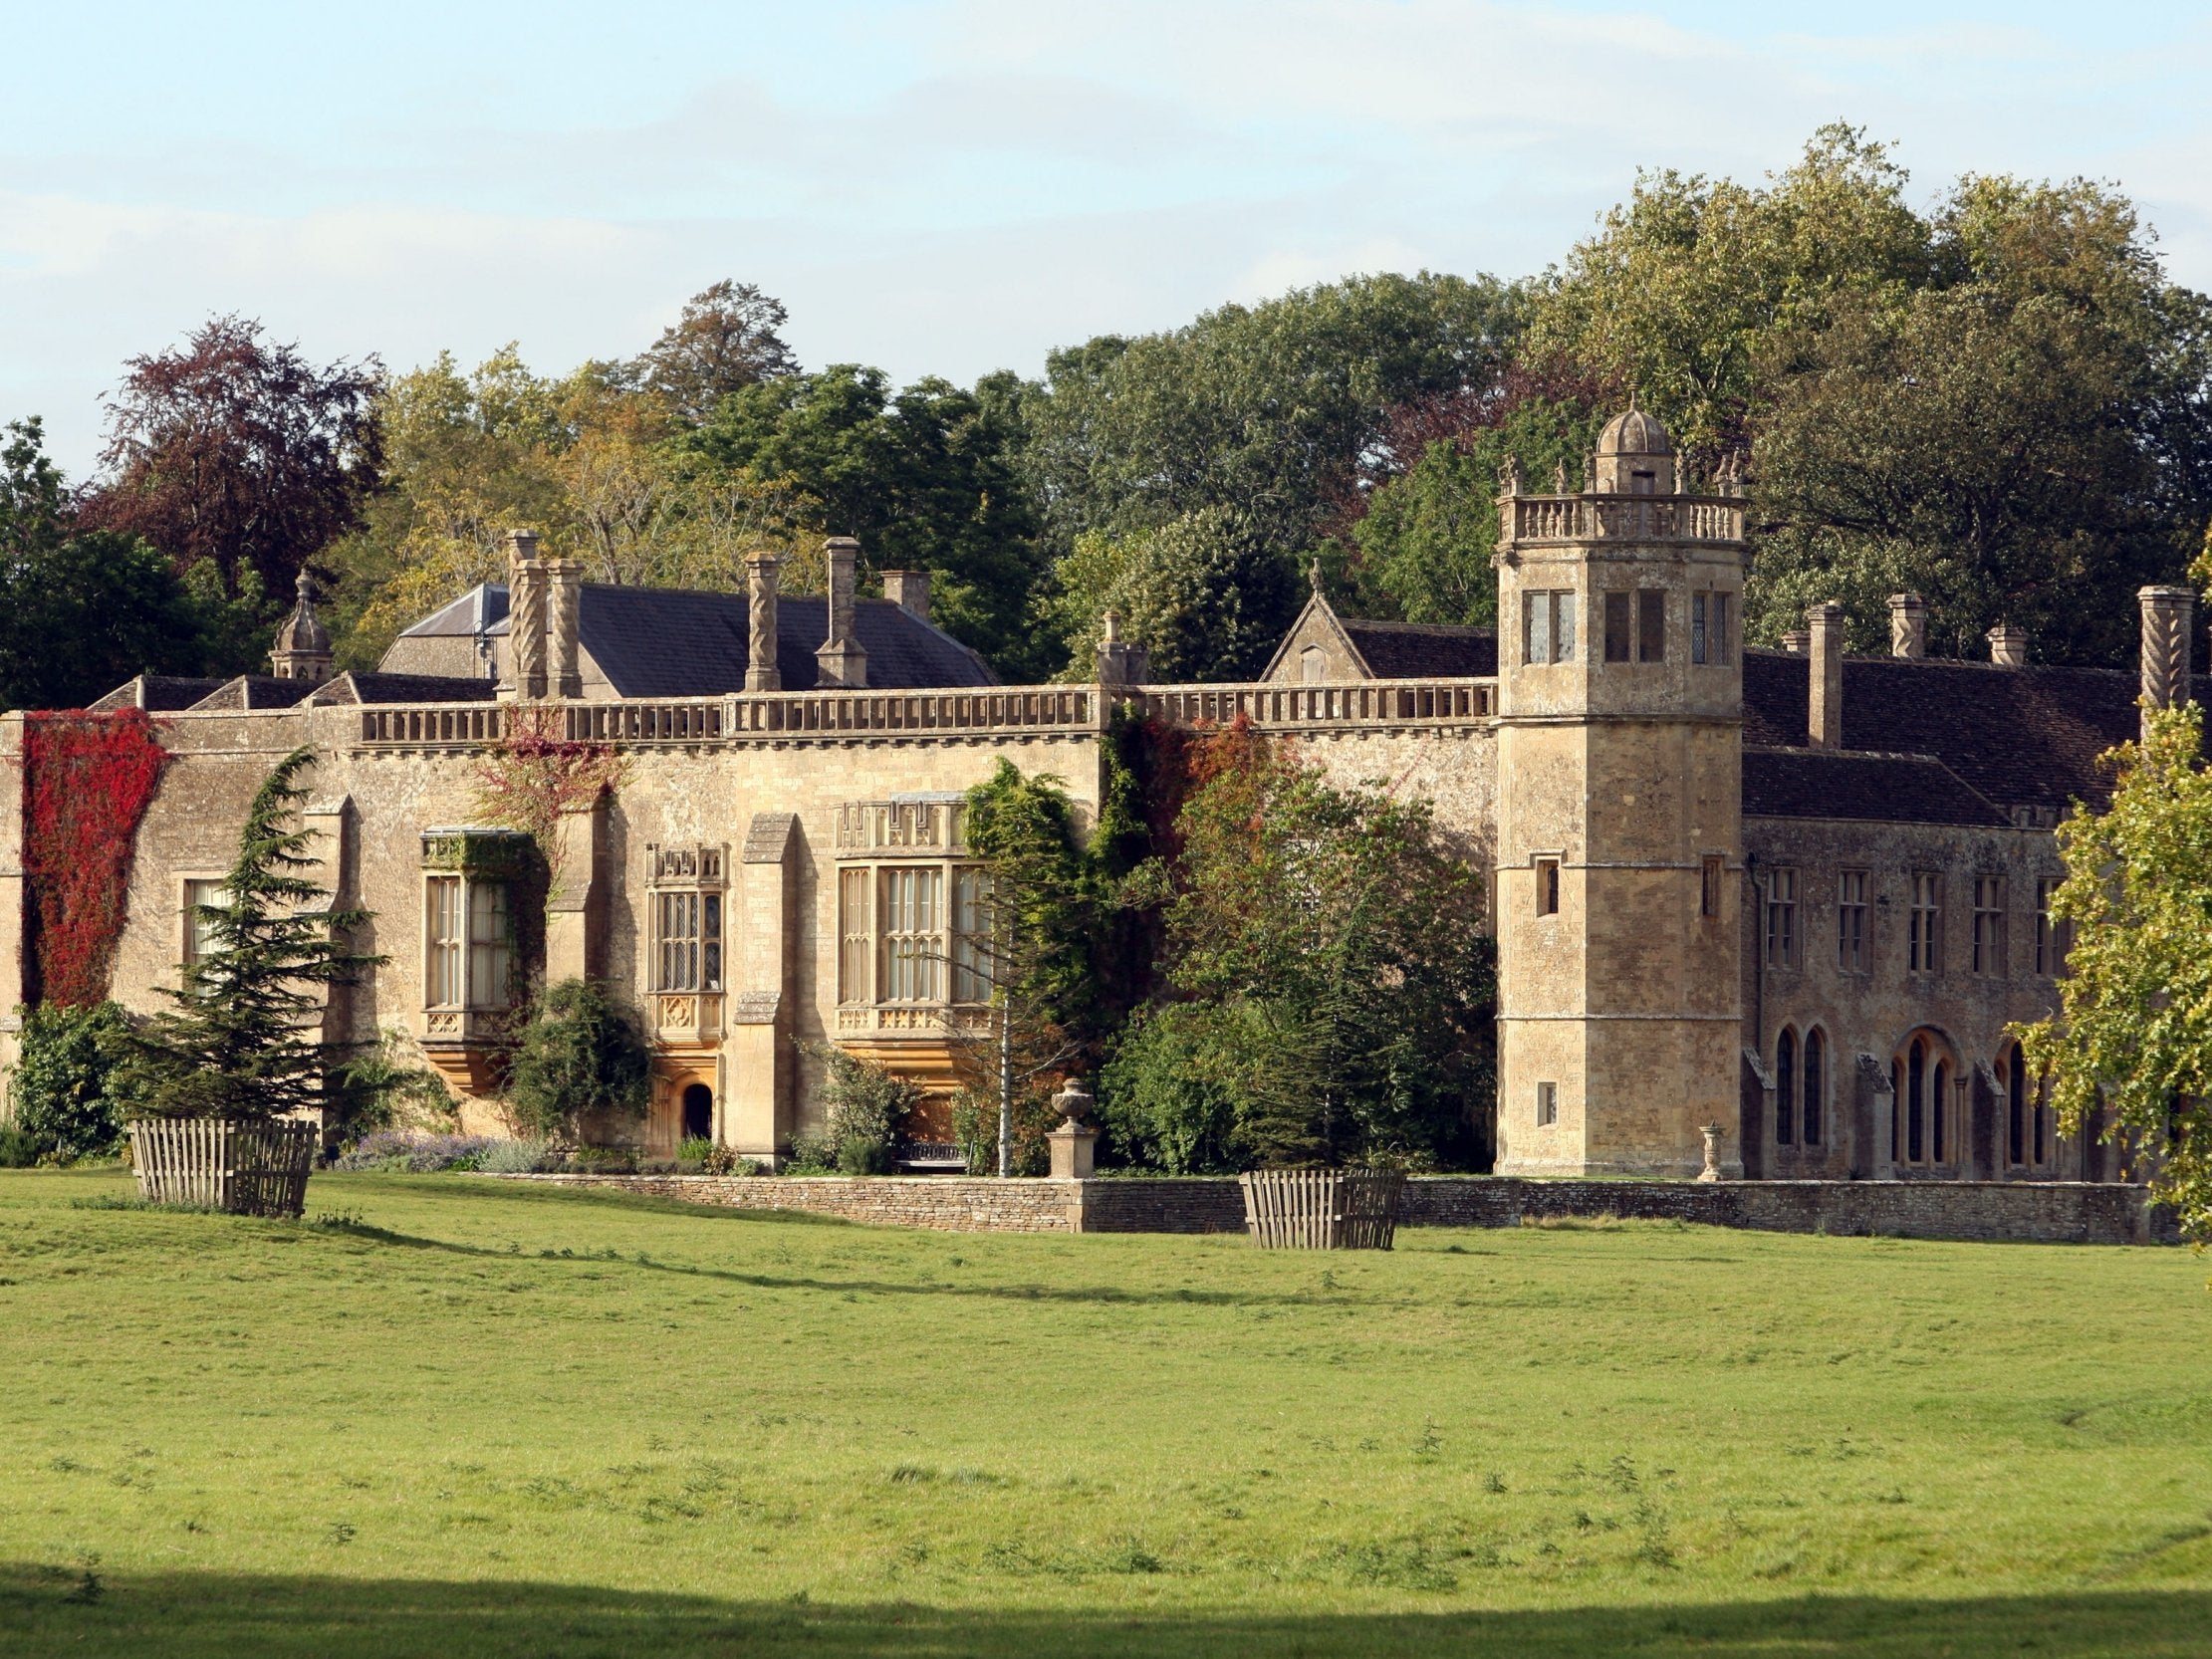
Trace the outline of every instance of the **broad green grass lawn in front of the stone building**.
<instances>
[{"instance_id":1,"label":"broad green grass lawn in front of the stone building","mask_svg":"<svg viewBox=\"0 0 2212 1659\"><path fill-rule=\"evenodd\" d=\"M0 1172L0 1652L2212 1655L2179 1250Z\"/></svg>"}]
</instances>

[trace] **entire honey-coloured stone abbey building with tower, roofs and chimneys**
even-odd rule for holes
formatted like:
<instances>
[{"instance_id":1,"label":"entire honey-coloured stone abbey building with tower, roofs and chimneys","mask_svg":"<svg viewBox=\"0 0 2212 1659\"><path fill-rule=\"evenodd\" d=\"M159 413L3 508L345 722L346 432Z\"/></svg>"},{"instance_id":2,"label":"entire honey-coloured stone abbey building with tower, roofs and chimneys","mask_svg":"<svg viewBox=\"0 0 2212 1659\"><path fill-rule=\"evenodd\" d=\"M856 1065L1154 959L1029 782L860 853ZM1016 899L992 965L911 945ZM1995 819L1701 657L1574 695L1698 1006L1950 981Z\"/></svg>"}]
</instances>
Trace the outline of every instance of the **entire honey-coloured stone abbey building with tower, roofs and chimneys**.
<instances>
[{"instance_id":1,"label":"entire honey-coloured stone abbey building with tower, roofs and chimneys","mask_svg":"<svg viewBox=\"0 0 2212 1659\"><path fill-rule=\"evenodd\" d=\"M1504 480L1502 628L1338 617L1318 595L1267 672L1146 684L1099 650L1093 684L1000 686L929 619L929 580L830 597L582 584L511 540L509 582L409 628L378 672L330 675L310 595L274 672L137 679L170 752L137 827L113 993L157 1006L199 940L270 765L314 745L323 880L374 911L385 958L332 993L338 1037L405 1031L495 1124L518 843L476 816L511 730L615 745L622 787L562 825L551 978L635 998L655 1051L646 1141L712 1135L774 1159L810 1126L821 1044L945 1084L989 987L964 936L975 878L962 792L998 761L1095 810L1115 703L1181 726L1245 717L1340 781L1436 801L1491 872L1500 945L1498 1168L1730 1177L2119 1179L2057 1135L2006 1024L2046 1013L2062 940L2053 825L2097 801L2097 757L2137 695L2188 686L2192 595L2146 588L2141 675L1922 650L1847 657L1816 606L1787 650L1741 644L1743 511L1697 493L1644 414L1606 429L1590 489ZM35 993L22 714L0 719L0 1002ZM15 1048L13 1020L0 1062Z\"/></svg>"}]
</instances>

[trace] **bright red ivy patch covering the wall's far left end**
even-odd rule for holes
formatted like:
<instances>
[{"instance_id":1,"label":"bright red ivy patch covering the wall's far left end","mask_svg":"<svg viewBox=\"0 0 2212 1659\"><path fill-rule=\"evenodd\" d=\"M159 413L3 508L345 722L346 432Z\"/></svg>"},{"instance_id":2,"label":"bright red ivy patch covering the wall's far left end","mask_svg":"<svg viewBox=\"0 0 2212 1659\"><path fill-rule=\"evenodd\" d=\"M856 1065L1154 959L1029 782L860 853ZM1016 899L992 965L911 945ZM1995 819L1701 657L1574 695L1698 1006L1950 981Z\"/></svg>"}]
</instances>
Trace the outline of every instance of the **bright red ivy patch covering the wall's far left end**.
<instances>
[{"instance_id":1,"label":"bright red ivy patch covering the wall's far left end","mask_svg":"<svg viewBox=\"0 0 2212 1659\"><path fill-rule=\"evenodd\" d=\"M166 761L142 708L24 719L22 867L38 1000L84 1009L106 998L131 852Z\"/></svg>"}]
</instances>

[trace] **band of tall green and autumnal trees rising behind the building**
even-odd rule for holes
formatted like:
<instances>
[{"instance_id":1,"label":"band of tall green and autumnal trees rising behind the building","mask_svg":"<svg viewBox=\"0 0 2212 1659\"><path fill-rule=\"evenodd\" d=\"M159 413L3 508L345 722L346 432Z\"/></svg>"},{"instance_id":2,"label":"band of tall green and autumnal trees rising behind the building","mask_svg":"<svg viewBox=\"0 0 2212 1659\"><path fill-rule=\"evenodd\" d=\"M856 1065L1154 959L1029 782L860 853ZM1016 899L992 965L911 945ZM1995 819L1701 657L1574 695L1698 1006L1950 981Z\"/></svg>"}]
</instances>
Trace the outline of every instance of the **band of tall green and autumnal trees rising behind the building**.
<instances>
[{"instance_id":1,"label":"band of tall green and autumnal trees rising behind the building","mask_svg":"<svg viewBox=\"0 0 2212 1659\"><path fill-rule=\"evenodd\" d=\"M818 586L849 533L869 571L931 571L1009 679L1082 677L1108 608L1159 677L1237 679L1312 562L1352 613L1491 622L1500 467L1579 487L1630 396L1692 476L1747 471L1765 641L1836 597L1880 648L1911 588L1938 653L2013 622L2039 661L2119 664L2132 591L2212 515L2212 301L2128 197L1964 177L1916 204L1847 126L1759 184L1644 173L1537 276L1347 276L1035 378L810 372L785 325L723 281L633 358L394 374L212 319L126 365L84 484L9 427L0 701L257 668L301 568L341 666L374 666L513 524L593 580L703 588L759 544Z\"/></svg>"}]
</instances>

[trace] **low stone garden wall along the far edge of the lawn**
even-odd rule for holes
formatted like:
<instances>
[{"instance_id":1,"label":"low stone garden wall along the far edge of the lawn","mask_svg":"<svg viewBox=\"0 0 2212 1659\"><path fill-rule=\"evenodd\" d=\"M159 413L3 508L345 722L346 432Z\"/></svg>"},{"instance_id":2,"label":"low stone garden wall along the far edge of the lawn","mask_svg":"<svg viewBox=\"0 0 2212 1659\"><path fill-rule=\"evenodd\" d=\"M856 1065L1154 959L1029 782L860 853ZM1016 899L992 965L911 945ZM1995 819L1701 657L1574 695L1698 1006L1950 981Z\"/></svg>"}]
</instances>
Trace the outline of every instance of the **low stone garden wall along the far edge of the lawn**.
<instances>
[{"instance_id":1,"label":"low stone garden wall along the far edge of the lawn","mask_svg":"<svg viewBox=\"0 0 2212 1659\"><path fill-rule=\"evenodd\" d=\"M810 1210L949 1232L1243 1232L1228 1177L984 1181L945 1175L507 1175L502 1181L653 1192L739 1210ZM1513 1228L1546 1217L1632 1217L1765 1232L2013 1243L2170 1243L2170 1210L2135 1186L2081 1181L1407 1181L1407 1228Z\"/></svg>"}]
</instances>

